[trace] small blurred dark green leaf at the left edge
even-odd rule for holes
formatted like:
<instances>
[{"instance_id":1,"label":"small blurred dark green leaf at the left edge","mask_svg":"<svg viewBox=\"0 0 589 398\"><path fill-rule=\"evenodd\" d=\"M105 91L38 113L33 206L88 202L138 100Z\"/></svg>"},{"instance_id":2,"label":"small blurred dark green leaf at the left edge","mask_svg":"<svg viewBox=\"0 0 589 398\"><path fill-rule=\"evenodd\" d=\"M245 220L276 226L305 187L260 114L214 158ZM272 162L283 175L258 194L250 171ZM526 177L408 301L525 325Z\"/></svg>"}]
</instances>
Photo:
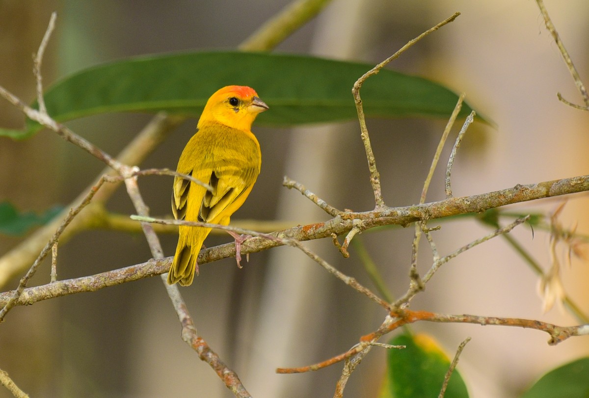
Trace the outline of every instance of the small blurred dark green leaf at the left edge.
<instances>
[{"instance_id":1,"label":"small blurred dark green leaf at the left edge","mask_svg":"<svg viewBox=\"0 0 589 398\"><path fill-rule=\"evenodd\" d=\"M47 224L63 207L54 206L41 214L32 211L19 213L16 207L5 201L0 203L0 234L19 236L37 225Z\"/></svg>"}]
</instances>

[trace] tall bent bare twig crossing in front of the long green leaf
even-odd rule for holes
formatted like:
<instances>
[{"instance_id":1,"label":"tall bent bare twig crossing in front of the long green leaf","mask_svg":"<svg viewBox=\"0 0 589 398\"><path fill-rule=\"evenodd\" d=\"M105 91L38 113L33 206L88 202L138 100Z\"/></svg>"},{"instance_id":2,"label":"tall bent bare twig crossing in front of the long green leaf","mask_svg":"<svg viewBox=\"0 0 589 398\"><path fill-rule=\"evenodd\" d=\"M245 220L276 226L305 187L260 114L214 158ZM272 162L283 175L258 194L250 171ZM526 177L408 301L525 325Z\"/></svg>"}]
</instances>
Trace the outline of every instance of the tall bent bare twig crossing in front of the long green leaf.
<instances>
[{"instance_id":1,"label":"tall bent bare twig crossing in front of the long green leaf","mask_svg":"<svg viewBox=\"0 0 589 398\"><path fill-rule=\"evenodd\" d=\"M385 201L382 198L382 190L380 188L380 174L378 173L378 169L376 168L376 160L374 157L374 153L372 152L372 145L370 145L370 137L368 135L368 127L366 127L366 120L364 116L364 108L362 105L362 98L360 98L360 88L362 85L372 75L378 74L380 69L384 68L386 64L391 62L393 59L399 57L399 55L403 54L407 49L412 47L413 44L421 40L422 38L429 35L431 32L434 32L441 28L442 26L448 24L449 22L454 21L460 15L459 12L452 15L450 18L445 19L445 21L440 22L439 24L435 25L433 28L428 29L427 31L423 32L418 37L412 39L407 44L405 44L399 51L395 52L395 54L391 55L391 57L385 59L385 61L380 62L380 64L376 65L374 68L370 69L368 72L362 75L353 85L352 88L352 95L354 97L354 101L356 102L356 111L358 112L358 121L360 122L360 137L362 138L362 142L364 144L364 149L366 151L366 159L368 160L368 169L370 171L370 184L372 185L372 191L374 193L374 198L376 202L376 209L380 209L385 207Z\"/></svg>"}]
</instances>

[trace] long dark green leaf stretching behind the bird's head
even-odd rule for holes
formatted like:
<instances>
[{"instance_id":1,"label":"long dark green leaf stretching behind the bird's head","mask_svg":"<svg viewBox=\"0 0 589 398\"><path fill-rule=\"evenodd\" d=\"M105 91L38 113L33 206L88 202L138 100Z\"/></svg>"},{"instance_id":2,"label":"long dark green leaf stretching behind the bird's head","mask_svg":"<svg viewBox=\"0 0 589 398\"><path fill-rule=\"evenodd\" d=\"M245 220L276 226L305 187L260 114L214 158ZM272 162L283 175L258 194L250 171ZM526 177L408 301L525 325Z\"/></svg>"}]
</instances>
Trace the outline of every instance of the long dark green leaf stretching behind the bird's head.
<instances>
[{"instance_id":1,"label":"long dark green leaf stretching behind the bird's head","mask_svg":"<svg viewBox=\"0 0 589 398\"><path fill-rule=\"evenodd\" d=\"M373 65L303 55L190 52L128 58L77 72L45 93L49 115L59 122L104 112L165 110L198 117L224 85L249 85L270 107L257 125L292 126L357 118L352 85ZM383 69L360 90L368 117L448 118L458 96L421 77ZM34 105L36 107L36 105ZM463 105L461 115L471 111ZM27 138L41 130L0 135Z\"/></svg>"}]
</instances>

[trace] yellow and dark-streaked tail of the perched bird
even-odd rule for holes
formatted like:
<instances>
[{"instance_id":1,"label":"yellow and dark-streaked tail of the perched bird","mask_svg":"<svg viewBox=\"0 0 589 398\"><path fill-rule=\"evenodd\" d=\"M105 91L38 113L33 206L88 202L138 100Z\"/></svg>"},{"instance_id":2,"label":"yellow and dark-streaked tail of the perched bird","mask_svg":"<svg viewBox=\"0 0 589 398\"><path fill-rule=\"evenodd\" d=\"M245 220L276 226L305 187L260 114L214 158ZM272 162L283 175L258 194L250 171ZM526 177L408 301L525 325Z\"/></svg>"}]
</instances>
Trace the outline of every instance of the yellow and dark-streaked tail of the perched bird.
<instances>
[{"instance_id":1,"label":"yellow and dark-streaked tail of the perched bird","mask_svg":"<svg viewBox=\"0 0 589 398\"><path fill-rule=\"evenodd\" d=\"M180 237L176 254L168 272L168 284L180 282L181 286L192 284L194 274L198 276L198 253L210 228L180 226Z\"/></svg>"}]
</instances>

